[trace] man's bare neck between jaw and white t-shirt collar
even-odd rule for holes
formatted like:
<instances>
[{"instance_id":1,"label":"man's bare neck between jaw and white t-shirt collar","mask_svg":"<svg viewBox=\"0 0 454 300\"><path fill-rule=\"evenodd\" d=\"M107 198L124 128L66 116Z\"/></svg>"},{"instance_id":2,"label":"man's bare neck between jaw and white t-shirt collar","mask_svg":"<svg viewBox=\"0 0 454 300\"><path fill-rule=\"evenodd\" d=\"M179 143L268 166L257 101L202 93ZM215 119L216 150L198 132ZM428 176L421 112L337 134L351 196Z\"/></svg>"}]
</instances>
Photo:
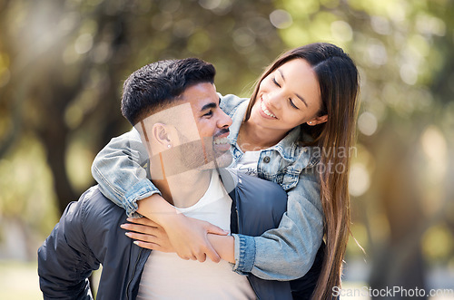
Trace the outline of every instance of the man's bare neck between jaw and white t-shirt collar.
<instances>
[{"instance_id":1,"label":"man's bare neck between jaw and white t-shirt collar","mask_svg":"<svg viewBox=\"0 0 454 300\"><path fill-rule=\"evenodd\" d=\"M163 198L173 206L189 208L203 197L211 179L212 170L189 170L165 179L152 179L152 182L161 191Z\"/></svg>"}]
</instances>

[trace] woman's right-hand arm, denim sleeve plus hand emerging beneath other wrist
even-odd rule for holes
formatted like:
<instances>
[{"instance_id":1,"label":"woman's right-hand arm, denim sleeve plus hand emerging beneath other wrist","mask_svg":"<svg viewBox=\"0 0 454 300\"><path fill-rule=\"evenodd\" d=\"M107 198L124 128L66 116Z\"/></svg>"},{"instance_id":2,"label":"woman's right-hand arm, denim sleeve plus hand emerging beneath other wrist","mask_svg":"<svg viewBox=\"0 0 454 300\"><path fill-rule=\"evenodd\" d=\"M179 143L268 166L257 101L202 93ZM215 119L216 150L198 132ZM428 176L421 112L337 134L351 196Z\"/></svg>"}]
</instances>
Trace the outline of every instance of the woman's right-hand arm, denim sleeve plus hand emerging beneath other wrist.
<instances>
[{"instance_id":1,"label":"woman's right-hand arm, denim sleeve plus hand emerging beneath other wrist","mask_svg":"<svg viewBox=\"0 0 454 300\"><path fill-rule=\"evenodd\" d=\"M287 195L287 212L279 227L266 231L261 237L208 235L219 256L235 265L234 271L252 273L268 280L292 280L311 269L321 246L323 230L319 183L311 175L304 174ZM130 221L149 226L145 219ZM158 229L133 224L123 228L136 232L128 237L135 239L140 247L174 252L166 243L165 230L157 234Z\"/></svg>"}]
</instances>

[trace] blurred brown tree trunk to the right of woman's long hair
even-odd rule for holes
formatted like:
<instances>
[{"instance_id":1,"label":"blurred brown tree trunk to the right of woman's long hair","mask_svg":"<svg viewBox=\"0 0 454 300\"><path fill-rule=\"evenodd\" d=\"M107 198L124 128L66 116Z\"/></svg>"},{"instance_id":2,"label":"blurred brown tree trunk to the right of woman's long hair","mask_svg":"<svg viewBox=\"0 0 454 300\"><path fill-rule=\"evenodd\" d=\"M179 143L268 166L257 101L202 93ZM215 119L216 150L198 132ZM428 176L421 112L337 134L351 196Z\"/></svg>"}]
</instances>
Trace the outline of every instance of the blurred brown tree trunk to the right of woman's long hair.
<instances>
[{"instance_id":1,"label":"blurred brown tree trunk to the right of woman's long hair","mask_svg":"<svg viewBox=\"0 0 454 300\"><path fill-rule=\"evenodd\" d=\"M370 287L375 293L379 290L396 292L372 293L372 298L427 299L427 296L413 294L417 289L425 288L420 246L424 216L419 206L421 199L415 166L418 134L403 132L402 138L392 124L389 126L374 137L377 169L372 180L373 192L378 195L378 207L383 208L389 222L390 236L386 245L372 251L374 264Z\"/></svg>"}]
</instances>

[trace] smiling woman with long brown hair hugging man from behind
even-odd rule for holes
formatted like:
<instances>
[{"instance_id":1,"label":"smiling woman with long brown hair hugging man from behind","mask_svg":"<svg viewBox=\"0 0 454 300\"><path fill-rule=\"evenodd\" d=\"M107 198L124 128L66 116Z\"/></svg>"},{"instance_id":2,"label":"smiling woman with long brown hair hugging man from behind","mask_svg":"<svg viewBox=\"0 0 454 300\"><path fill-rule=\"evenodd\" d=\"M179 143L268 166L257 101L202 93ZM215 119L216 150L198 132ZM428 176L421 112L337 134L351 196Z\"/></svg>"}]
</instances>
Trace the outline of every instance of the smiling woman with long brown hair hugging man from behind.
<instances>
[{"instance_id":1,"label":"smiling woman with long brown hair hugging man from behind","mask_svg":"<svg viewBox=\"0 0 454 300\"><path fill-rule=\"evenodd\" d=\"M234 235L234 270L263 279L301 277L311 267L324 237L325 256L313 296L331 298L332 287L341 284L350 232L350 158L345 151L353 142L358 91L359 75L350 57L333 44L319 43L278 57L262 74L251 101L234 95L221 98L222 110L233 121L229 136L232 167L272 180L288 195L280 227L262 237ZM175 250L192 251L187 258L204 260L200 257L209 255L212 248L201 250L200 245L206 245L207 232L219 234L219 230L181 215L165 221L141 210L143 198L153 198L153 204L163 208L160 211L171 208L144 179L138 165L118 169L120 160L138 155L128 152L125 143L124 138L111 141L94 160L94 179L104 195L129 215L138 211L160 224Z\"/></svg>"}]
</instances>

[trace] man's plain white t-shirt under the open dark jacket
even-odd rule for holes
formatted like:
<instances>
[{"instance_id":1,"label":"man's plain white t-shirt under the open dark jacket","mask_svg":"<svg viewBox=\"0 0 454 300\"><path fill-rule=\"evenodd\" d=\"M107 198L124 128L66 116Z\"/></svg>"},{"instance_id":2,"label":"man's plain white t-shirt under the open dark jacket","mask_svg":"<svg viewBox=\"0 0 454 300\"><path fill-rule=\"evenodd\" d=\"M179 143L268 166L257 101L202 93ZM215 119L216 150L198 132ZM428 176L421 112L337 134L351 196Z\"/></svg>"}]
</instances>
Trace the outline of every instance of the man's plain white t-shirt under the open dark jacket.
<instances>
[{"instance_id":1,"label":"man's plain white t-shirt under the open dark jacket","mask_svg":"<svg viewBox=\"0 0 454 300\"><path fill-rule=\"evenodd\" d=\"M212 171L210 186L190 208L178 208L191 218L208 221L230 230L232 198ZM152 251L143 269L137 299L255 299L246 276L232 271L225 260L218 264L209 258L200 263L184 260L175 253Z\"/></svg>"}]
</instances>

